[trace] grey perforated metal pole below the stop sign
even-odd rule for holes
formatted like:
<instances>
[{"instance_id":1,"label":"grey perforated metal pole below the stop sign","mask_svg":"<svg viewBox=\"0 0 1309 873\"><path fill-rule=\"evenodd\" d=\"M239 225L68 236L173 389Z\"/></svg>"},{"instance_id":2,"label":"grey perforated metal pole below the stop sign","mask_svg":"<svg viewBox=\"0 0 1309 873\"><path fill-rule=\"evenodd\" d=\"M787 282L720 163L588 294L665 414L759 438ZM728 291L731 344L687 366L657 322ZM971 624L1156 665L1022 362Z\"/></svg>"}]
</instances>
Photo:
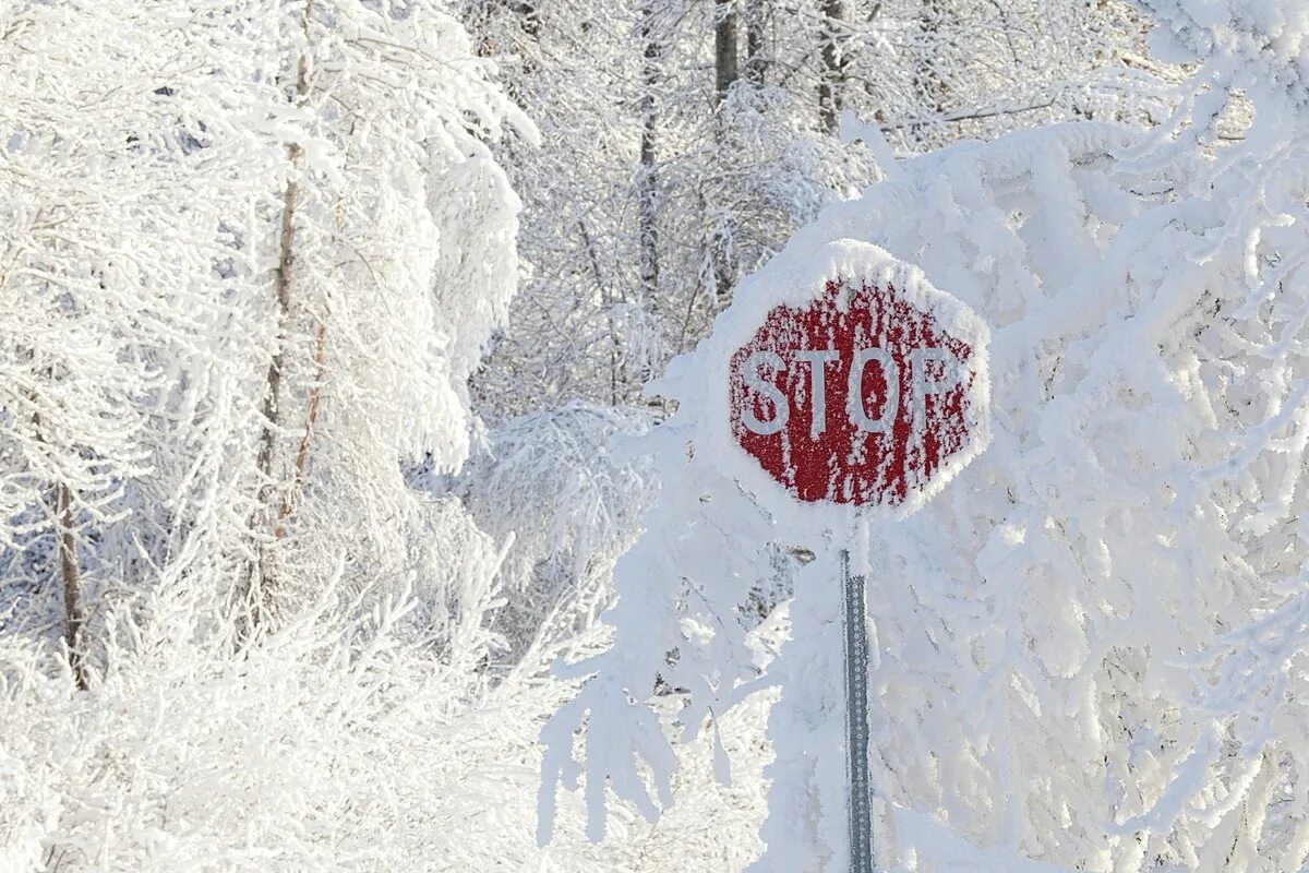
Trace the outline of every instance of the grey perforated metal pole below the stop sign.
<instances>
[{"instance_id":1,"label":"grey perforated metal pole below the stop sign","mask_svg":"<svg viewBox=\"0 0 1309 873\"><path fill-rule=\"evenodd\" d=\"M868 776L868 631L864 577L850 572L840 550L842 623L846 626L846 783L850 785L850 873L873 873L873 809Z\"/></svg>"}]
</instances>

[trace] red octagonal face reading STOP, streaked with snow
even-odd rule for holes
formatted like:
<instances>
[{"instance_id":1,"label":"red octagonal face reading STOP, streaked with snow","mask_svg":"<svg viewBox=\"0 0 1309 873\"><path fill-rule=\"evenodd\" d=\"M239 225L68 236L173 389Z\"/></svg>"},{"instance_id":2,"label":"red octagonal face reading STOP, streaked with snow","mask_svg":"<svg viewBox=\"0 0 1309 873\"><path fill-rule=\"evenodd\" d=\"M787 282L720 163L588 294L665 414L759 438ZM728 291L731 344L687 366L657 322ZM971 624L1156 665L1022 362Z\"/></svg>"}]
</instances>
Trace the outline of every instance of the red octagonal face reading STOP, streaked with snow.
<instances>
[{"instance_id":1,"label":"red octagonal face reading STOP, streaked with snow","mask_svg":"<svg viewBox=\"0 0 1309 873\"><path fill-rule=\"evenodd\" d=\"M890 284L829 281L732 356L732 435L798 500L898 507L971 445L973 356Z\"/></svg>"}]
</instances>

